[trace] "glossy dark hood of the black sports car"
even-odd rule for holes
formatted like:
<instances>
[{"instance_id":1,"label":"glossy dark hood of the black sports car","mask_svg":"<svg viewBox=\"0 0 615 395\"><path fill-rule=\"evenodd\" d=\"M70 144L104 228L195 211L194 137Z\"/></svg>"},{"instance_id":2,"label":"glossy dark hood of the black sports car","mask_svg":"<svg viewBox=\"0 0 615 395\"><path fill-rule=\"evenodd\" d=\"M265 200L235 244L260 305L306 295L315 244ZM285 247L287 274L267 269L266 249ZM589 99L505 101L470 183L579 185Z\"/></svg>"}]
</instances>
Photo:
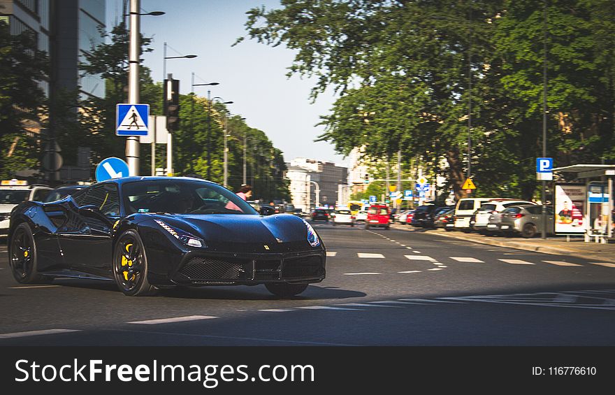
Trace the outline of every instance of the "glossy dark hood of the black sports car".
<instances>
[{"instance_id":1,"label":"glossy dark hood of the black sports car","mask_svg":"<svg viewBox=\"0 0 615 395\"><path fill-rule=\"evenodd\" d=\"M307 237L305 222L290 214L156 215L157 219L194 236L223 243L289 243Z\"/></svg>"}]
</instances>

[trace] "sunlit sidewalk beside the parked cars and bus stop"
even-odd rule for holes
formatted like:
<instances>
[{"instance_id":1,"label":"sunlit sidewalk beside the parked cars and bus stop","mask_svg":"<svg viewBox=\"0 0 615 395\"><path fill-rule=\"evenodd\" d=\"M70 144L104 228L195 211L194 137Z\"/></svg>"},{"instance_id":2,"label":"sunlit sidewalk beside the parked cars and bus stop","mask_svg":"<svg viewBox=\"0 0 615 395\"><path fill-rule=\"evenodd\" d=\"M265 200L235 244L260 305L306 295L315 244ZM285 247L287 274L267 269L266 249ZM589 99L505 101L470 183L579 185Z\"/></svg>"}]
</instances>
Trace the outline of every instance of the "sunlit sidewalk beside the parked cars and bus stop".
<instances>
[{"instance_id":1,"label":"sunlit sidewalk beside the parked cars and bus stop","mask_svg":"<svg viewBox=\"0 0 615 395\"><path fill-rule=\"evenodd\" d=\"M615 264L615 243L585 243L582 236L570 237L551 236L545 240L540 237L521 238L504 236L484 236L477 233L464 233L462 231L445 231L444 229L414 228L409 225L394 225L395 229L417 231L426 234L437 234L475 243L498 245L499 247L518 248L519 250L544 252L547 254L580 257L591 261L610 262Z\"/></svg>"}]
</instances>

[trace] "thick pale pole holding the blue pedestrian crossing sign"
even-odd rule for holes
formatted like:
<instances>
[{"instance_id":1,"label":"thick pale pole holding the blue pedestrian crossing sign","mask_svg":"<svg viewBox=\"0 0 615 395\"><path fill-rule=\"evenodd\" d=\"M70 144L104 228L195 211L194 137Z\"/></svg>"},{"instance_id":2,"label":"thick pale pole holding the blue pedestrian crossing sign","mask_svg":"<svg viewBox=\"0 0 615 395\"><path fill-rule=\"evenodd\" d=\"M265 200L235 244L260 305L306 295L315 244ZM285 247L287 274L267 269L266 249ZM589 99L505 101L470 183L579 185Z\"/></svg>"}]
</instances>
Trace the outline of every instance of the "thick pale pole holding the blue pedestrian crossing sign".
<instances>
[{"instance_id":1,"label":"thick pale pole holding the blue pedestrian crossing sign","mask_svg":"<svg viewBox=\"0 0 615 395\"><path fill-rule=\"evenodd\" d=\"M139 102L139 23L140 0L130 0L128 103ZM130 175L139 175L139 138L126 137L126 161Z\"/></svg>"}]
</instances>

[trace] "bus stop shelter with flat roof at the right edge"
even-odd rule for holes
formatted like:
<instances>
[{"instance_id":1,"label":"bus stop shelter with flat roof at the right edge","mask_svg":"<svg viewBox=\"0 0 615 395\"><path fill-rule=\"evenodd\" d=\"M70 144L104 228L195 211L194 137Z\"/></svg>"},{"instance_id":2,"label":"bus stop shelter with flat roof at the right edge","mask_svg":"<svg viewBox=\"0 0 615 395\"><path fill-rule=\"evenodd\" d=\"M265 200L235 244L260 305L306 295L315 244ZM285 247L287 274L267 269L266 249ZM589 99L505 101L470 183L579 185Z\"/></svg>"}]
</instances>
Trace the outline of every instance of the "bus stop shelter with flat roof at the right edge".
<instances>
[{"instance_id":1,"label":"bus stop shelter with flat roof at the right edge","mask_svg":"<svg viewBox=\"0 0 615 395\"><path fill-rule=\"evenodd\" d=\"M614 239L615 164L574 164L553 169L554 173L574 175L586 186L584 205L585 240L607 243Z\"/></svg>"}]
</instances>

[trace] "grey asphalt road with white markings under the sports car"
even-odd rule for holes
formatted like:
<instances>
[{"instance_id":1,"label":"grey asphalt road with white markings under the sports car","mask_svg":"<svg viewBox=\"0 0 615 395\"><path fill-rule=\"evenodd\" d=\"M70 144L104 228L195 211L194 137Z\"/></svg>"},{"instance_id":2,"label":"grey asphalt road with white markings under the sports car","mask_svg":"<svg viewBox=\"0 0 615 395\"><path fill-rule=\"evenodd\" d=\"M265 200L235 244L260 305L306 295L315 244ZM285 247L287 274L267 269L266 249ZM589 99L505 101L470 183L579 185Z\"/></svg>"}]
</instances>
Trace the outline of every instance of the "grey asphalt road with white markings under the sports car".
<instances>
[{"instance_id":1,"label":"grey asphalt road with white markings under the sports car","mask_svg":"<svg viewBox=\"0 0 615 395\"><path fill-rule=\"evenodd\" d=\"M327 278L131 298L20 285L0 245L1 345L615 345L615 268L400 229L317 222Z\"/></svg>"}]
</instances>

